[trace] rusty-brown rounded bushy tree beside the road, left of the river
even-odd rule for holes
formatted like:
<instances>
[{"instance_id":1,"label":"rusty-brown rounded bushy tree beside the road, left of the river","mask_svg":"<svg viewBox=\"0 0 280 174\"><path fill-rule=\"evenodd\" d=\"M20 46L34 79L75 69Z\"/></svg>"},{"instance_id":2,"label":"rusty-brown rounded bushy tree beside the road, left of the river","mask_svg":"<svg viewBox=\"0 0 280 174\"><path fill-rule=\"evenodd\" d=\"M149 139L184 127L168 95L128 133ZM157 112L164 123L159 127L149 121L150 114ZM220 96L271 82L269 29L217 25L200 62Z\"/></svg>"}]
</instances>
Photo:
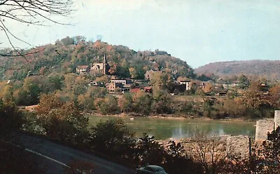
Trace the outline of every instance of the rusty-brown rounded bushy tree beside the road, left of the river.
<instances>
[{"instance_id":1,"label":"rusty-brown rounded bushy tree beside the road, left of the river","mask_svg":"<svg viewBox=\"0 0 280 174\"><path fill-rule=\"evenodd\" d=\"M87 135L88 118L73 102L62 102L54 94L41 95L36 109L38 125L50 138L83 145Z\"/></svg>"}]
</instances>

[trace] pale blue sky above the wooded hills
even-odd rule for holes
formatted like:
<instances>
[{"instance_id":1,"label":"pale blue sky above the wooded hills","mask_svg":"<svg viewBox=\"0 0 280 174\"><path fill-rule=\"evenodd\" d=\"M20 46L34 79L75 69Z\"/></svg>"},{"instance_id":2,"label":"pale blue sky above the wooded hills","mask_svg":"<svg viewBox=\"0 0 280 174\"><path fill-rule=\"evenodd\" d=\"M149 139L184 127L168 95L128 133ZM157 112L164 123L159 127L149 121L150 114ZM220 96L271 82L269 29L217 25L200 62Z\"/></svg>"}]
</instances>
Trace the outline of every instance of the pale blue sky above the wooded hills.
<instances>
[{"instance_id":1,"label":"pale blue sky above the wooded hills","mask_svg":"<svg viewBox=\"0 0 280 174\"><path fill-rule=\"evenodd\" d=\"M7 26L31 46L65 36L96 40L101 35L102 41L134 51L167 51L193 68L218 61L278 60L280 55L278 0L74 0L73 8L71 18L52 17L71 25Z\"/></svg>"}]
</instances>

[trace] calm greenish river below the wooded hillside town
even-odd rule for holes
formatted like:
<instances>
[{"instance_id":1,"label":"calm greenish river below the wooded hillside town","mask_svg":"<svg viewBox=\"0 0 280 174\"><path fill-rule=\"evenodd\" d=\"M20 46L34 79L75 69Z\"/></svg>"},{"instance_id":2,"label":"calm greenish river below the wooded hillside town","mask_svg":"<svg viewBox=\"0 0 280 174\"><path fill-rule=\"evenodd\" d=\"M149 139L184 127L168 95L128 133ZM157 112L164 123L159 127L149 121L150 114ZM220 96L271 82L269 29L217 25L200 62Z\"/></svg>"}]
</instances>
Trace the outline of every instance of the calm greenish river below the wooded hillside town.
<instances>
[{"instance_id":1,"label":"calm greenish river below the wooded hillside town","mask_svg":"<svg viewBox=\"0 0 280 174\"><path fill-rule=\"evenodd\" d=\"M112 116L90 116L90 125ZM115 118L115 117L113 117ZM255 121L221 121L195 119L167 119L136 117L124 119L127 126L135 131L137 137L143 133L155 136L156 140L178 140L199 135L249 135L255 136Z\"/></svg>"}]
</instances>

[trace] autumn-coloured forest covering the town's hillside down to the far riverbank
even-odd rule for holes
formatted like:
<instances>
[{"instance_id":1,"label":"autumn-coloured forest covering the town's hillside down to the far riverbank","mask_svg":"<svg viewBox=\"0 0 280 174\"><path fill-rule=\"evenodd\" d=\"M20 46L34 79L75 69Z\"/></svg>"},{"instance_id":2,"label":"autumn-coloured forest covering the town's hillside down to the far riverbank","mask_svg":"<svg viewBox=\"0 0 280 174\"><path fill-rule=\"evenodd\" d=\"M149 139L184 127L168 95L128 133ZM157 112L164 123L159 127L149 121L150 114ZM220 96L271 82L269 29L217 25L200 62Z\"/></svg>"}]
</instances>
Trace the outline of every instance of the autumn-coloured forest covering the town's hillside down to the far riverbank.
<instances>
[{"instance_id":1,"label":"autumn-coloured forest covering the town's hillside down to the far riverbank","mask_svg":"<svg viewBox=\"0 0 280 174\"><path fill-rule=\"evenodd\" d=\"M83 36L67 36L21 55L5 49L1 55L5 56L0 58L0 98L18 106L41 105L39 101L44 102L43 96L48 95L61 102L73 102L92 114L255 119L273 116L280 105L280 86L276 82L252 80L244 74L228 79L197 75L187 62L166 51L136 52L100 40L85 41ZM76 67L102 62L104 56L110 66L107 74L76 73ZM153 76L147 80L145 74L149 71ZM116 93L109 93L106 86L112 79L131 79L135 83L130 93L120 93L118 88ZM98 85L92 86L93 81ZM239 81L238 86L230 85L234 81ZM185 83L191 86L188 90ZM140 86L153 90L132 93Z\"/></svg>"}]
</instances>

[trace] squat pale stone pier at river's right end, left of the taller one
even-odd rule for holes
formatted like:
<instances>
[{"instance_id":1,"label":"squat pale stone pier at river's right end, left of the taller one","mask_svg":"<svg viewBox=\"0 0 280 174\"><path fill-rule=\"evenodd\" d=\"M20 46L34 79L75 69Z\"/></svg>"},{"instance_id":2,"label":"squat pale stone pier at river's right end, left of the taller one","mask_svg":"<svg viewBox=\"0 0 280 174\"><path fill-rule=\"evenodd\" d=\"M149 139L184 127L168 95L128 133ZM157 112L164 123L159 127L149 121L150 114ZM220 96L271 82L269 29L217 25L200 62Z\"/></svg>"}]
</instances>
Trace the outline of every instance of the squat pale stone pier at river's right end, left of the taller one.
<instances>
[{"instance_id":1,"label":"squat pale stone pier at river's right end, left of the taller one","mask_svg":"<svg viewBox=\"0 0 280 174\"><path fill-rule=\"evenodd\" d=\"M267 140L267 132L273 131L274 119L258 120L255 127L255 140Z\"/></svg>"}]
</instances>

